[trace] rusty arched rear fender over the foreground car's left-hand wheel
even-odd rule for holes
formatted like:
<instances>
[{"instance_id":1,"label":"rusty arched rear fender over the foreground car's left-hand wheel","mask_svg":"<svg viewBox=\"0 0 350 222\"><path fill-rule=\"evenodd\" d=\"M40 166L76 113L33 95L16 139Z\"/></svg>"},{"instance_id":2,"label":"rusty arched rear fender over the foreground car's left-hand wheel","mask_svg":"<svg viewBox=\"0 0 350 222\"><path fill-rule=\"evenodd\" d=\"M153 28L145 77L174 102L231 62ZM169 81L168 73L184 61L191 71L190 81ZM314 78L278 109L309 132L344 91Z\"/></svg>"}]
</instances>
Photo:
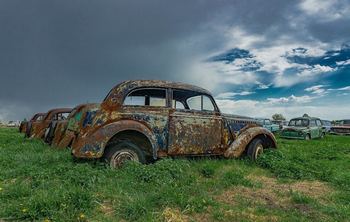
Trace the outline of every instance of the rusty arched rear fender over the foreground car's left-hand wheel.
<instances>
[{"instance_id":1,"label":"rusty arched rear fender over the foreground car's left-hand wheel","mask_svg":"<svg viewBox=\"0 0 350 222\"><path fill-rule=\"evenodd\" d=\"M142 123L132 120L121 120L111 123L99 129L87 139L82 146L74 153L76 157L99 158L103 155L107 142L117 133L124 130L136 130L144 134L151 142L153 158L157 158L158 143L155 135Z\"/></svg>"}]
</instances>

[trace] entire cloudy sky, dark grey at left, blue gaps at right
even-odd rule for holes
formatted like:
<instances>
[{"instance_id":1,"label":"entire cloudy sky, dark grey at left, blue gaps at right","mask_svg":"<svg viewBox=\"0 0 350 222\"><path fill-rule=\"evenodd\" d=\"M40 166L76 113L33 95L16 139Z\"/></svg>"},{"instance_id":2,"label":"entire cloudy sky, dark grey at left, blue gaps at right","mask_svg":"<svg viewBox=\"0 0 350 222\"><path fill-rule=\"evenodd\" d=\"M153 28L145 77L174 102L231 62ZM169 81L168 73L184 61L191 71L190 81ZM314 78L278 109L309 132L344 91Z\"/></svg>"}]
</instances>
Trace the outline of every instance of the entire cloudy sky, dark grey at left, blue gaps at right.
<instances>
[{"instance_id":1,"label":"entire cloudy sky, dark grey at left, blue gaps at right","mask_svg":"<svg viewBox=\"0 0 350 222\"><path fill-rule=\"evenodd\" d=\"M225 113L350 118L350 1L0 1L0 120L139 78Z\"/></svg>"}]
</instances>

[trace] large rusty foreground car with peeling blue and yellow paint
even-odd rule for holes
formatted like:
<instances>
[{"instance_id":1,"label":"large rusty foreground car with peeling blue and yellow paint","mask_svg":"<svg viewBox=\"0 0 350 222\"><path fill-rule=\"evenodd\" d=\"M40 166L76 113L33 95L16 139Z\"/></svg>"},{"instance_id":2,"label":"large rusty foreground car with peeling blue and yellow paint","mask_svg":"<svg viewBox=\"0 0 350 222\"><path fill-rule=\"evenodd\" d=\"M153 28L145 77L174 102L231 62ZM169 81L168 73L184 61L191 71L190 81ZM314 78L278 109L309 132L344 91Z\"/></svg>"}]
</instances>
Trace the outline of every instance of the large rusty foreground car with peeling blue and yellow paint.
<instances>
[{"instance_id":1,"label":"large rusty foreground car with peeling blue and yellow paint","mask_svg":"<svg viewBox=\"0 0 350 222\"><path fill-rule=\"evenodd\" d=\"M246 155L277 148L274 135L251 117L223 114L207 90L162 80L128 80L100 106L86 108L72 141L72 155L145 163L175 155Z\"/></svg>"}]
</instances>

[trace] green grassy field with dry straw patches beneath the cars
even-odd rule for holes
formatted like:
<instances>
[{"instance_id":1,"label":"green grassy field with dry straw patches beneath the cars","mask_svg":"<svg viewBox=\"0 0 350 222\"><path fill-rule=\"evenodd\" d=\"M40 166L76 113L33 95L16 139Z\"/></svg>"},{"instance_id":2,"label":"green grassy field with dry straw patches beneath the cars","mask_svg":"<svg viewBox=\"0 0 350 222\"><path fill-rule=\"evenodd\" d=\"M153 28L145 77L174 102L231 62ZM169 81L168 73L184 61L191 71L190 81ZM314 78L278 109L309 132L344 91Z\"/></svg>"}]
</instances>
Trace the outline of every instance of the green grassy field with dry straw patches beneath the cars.
<instances>
[{"instance_id":1,"label":"green grassy field with dry straw patches beneath the cars","mask_svg":"<svg viewBox=\"0 0 350 222\"><path fill-rule=\"evenodd\" d=\"M111 170L0 127L1 221L348 221L350 136Z\"/></svg>"}]
</instances>

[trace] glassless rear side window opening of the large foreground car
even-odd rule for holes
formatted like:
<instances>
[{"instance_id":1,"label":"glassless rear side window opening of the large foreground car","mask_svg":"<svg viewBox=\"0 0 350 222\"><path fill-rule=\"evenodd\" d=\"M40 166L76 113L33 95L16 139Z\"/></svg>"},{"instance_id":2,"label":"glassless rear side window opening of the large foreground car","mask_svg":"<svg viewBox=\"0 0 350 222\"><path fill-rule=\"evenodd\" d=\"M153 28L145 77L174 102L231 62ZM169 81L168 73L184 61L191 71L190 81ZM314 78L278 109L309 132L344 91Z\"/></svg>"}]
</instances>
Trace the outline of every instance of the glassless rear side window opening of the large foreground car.
<instances>
[{"instance_id":1,"label":"glassless rear side window opening of the large foreground car","mask_svg":"<svg viewBox=\"0 0 350 222\"><path fill-rule=\"evenodd\" d=\"M124 105L127 106L157 106L166 107L165 89L139 89L126 97Z\"/></svg>"}]
</instances>

